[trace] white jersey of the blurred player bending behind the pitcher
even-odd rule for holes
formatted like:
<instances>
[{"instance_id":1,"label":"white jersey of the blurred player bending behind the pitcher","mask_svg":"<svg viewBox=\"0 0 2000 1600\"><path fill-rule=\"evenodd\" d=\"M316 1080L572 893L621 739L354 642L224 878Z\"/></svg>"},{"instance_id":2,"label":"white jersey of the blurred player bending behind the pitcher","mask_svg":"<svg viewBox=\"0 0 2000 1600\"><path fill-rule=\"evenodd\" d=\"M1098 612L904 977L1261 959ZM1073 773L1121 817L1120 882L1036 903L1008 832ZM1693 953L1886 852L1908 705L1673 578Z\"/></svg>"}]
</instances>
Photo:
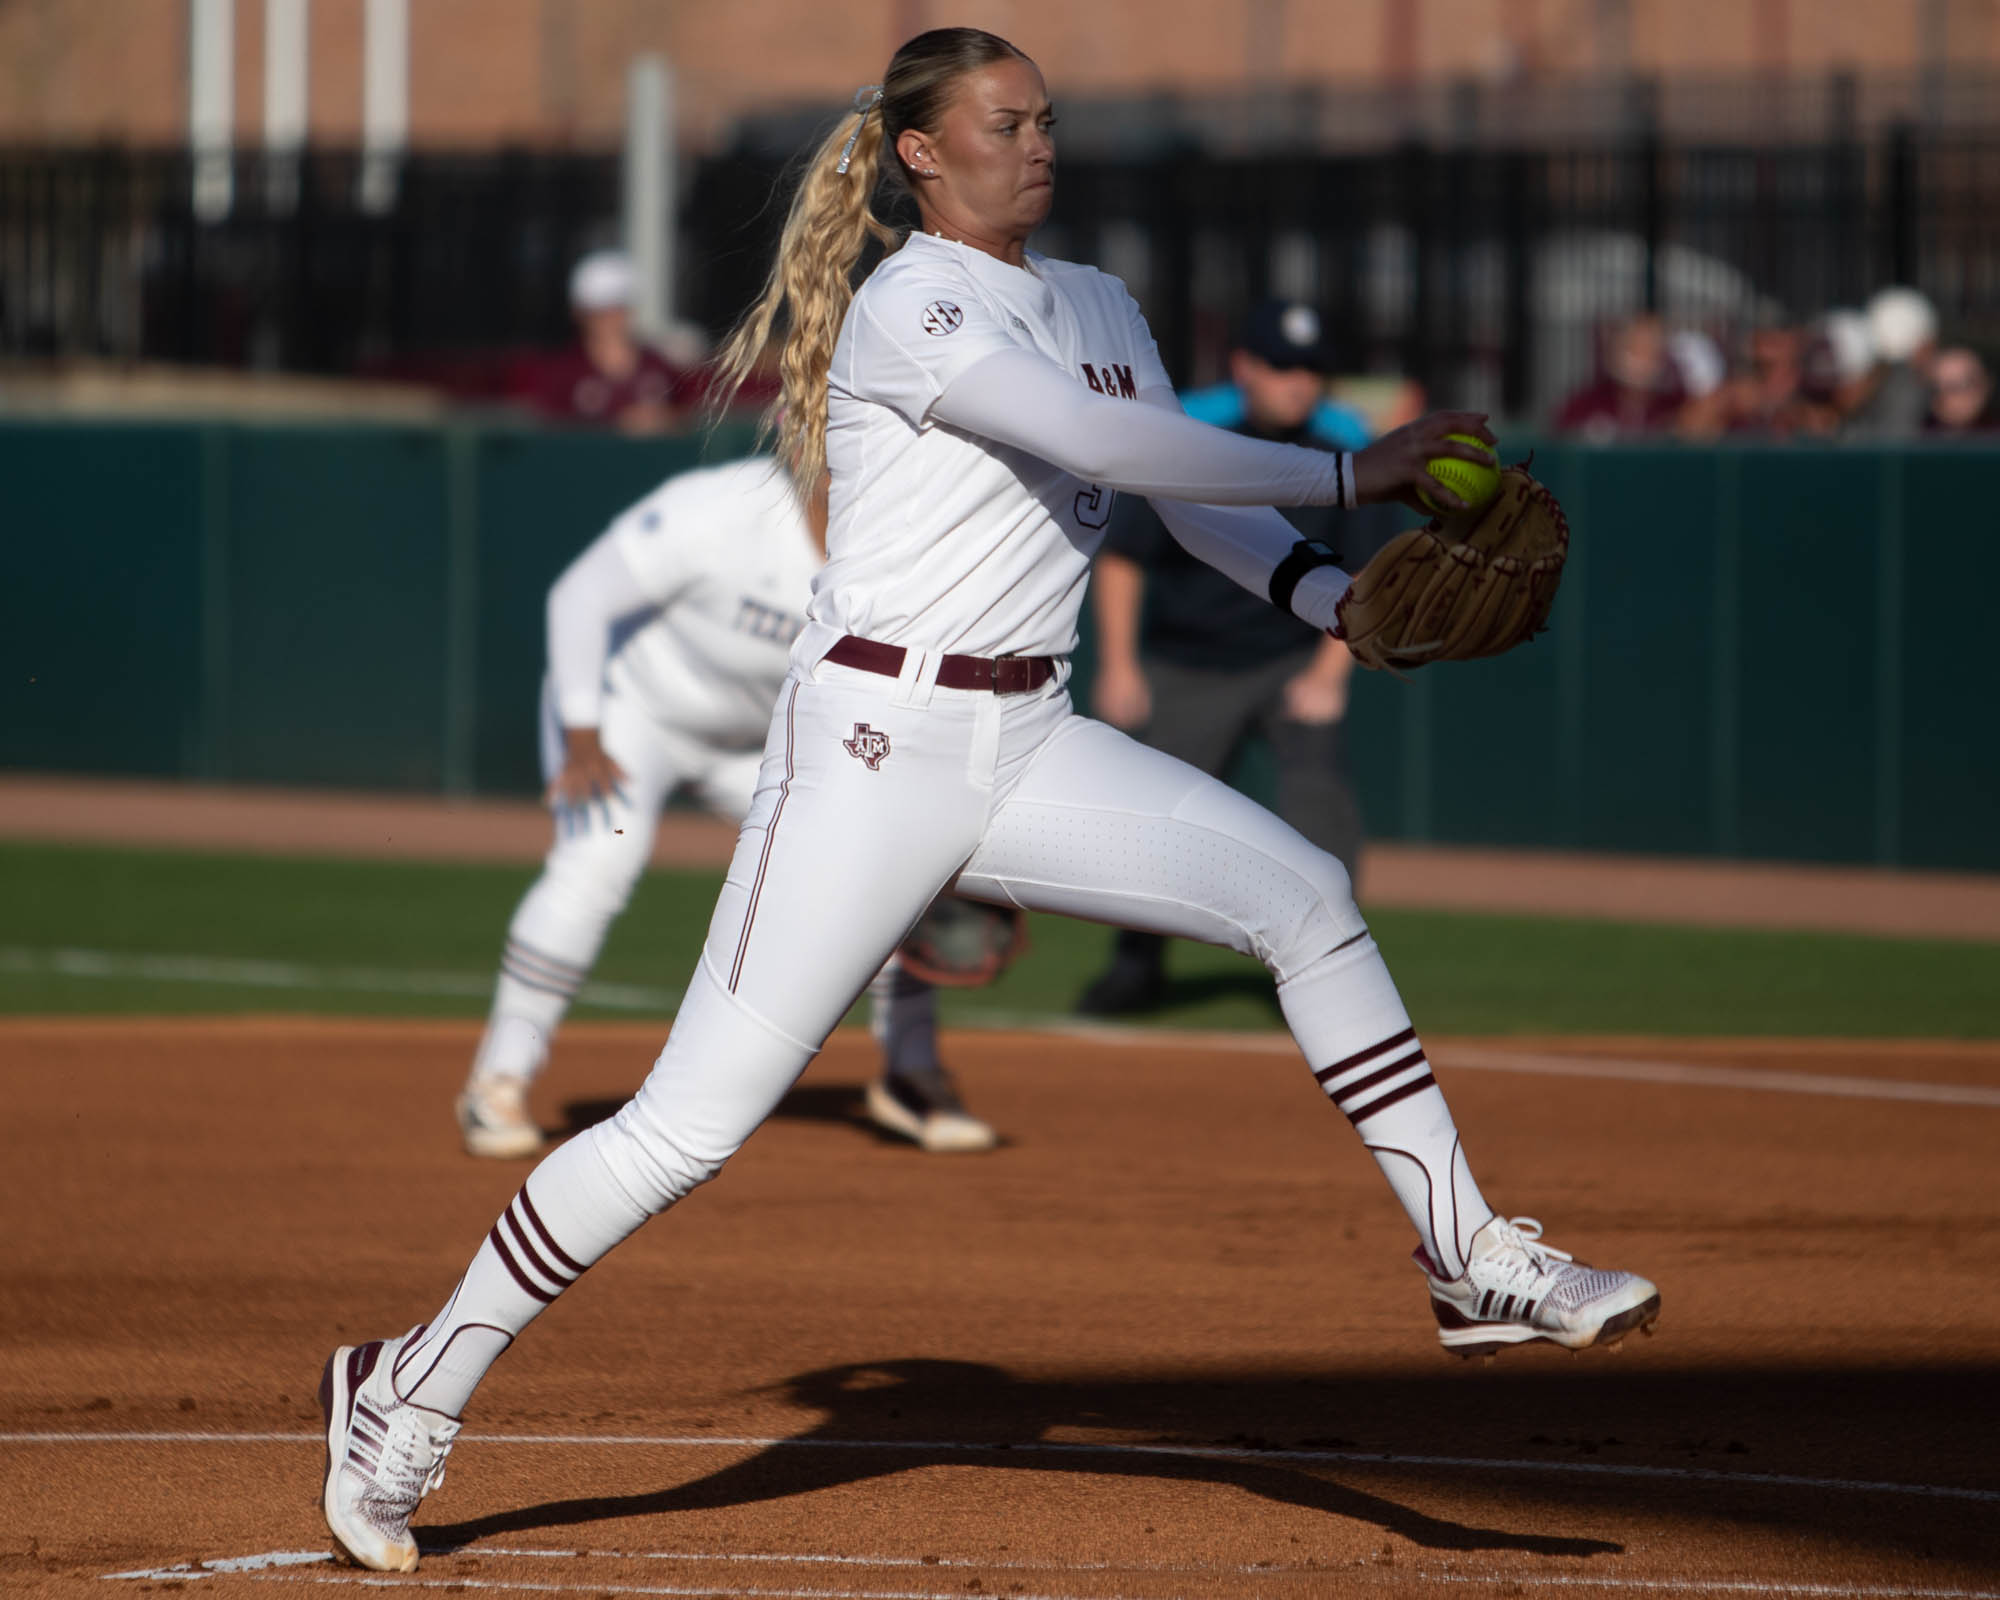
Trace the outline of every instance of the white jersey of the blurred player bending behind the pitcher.
<instances>
[{"instance_id":1,"label":"white jersey of the blurred player bending behind the pitcher","mask_svg":"<svg viewBox=\"0 0 2000 1600\"><path fill-rule=\"evenodd\" d=\"M552 662L562 722L596 726L608 692L704 744L762 746L820 570L790 476L768 456L684 472L604 540L654 610L614 630L602 690L588 676L564 682Z\"/></svg>"}]
</instances>

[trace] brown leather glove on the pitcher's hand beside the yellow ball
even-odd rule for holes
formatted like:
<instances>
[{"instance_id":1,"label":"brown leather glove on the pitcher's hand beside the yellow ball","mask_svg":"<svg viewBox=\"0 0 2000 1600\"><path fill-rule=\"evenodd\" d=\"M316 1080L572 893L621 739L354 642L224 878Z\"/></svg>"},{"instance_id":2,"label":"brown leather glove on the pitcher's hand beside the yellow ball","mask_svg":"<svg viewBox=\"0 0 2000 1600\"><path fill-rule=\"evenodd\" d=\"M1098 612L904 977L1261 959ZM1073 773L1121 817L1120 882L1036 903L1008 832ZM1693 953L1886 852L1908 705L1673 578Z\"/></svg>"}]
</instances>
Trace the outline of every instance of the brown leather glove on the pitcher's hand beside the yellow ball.
<instances>
[{"instance_id":1,"label":"brown leather glove on the pitcher's hand beside the yellow ball","mask_svg":"<svg viewBox=\"0 0 2000 1600\"><path fill-rule=\"evenodd\" d=\"M1362 666L1408 670L1498 656L1548 626L1570 522L1526 466L1500 474L1476 512L1390 540L1334 608L1334 632Z\"/></svg>"}]
</instances>

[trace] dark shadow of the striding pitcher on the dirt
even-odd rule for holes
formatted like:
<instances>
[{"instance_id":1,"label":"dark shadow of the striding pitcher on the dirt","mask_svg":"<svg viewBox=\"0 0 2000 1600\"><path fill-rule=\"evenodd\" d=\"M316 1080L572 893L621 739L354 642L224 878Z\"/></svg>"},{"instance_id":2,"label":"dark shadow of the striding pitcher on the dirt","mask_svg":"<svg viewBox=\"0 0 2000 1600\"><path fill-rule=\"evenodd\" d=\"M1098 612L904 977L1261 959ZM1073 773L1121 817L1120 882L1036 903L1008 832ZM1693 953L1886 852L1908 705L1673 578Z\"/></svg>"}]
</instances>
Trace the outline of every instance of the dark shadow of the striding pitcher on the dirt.
<instances>
[{"instance_id":1,"label":"dark shadow of the striding pitcher on the dirt","mask_svg":"<svg viewBox=\"0 0 2000 1600\"><path fill-rule=\"evenodd\" d=\"M1054 1428L1098 1422L1084 1408L1088 1390L1074 1384L1020 1380L996 1366L952 1360L888 1360L806 1372L784 1384L798 1406L824 1412L824 1420L782 1444L702 1478L636 1494L580 1496L494 1512L466 1522L420 1528L426 1550L458 1550L496 1534L542 1532L628 1516L720 1510L796 1494L886 1478L918 1466L978 1464L1090 1476L1150 1478L1162 1482L1220 1484L1284 1506L1352 1522L1372 1522L1426 1550L1520 1550L1536 1556L1618 1554L1624 1546L1596 1538L1522 1534L1478 1528L1430 1516L1380 1494L1334 1482L1326 1464L1286 1466L1216 1456L1122 1454L1078 1446L1070 1452L1010 1450L1006 1442L1040 1440ZM996 1424L1004 1438L994 1436ZM910 1442L912 1426L922 1432ZM990 1448L976 1440L994 1436ZM968 1440L966 1446L924 1448L924 1440Z\"/></svg>"}]
</instances>

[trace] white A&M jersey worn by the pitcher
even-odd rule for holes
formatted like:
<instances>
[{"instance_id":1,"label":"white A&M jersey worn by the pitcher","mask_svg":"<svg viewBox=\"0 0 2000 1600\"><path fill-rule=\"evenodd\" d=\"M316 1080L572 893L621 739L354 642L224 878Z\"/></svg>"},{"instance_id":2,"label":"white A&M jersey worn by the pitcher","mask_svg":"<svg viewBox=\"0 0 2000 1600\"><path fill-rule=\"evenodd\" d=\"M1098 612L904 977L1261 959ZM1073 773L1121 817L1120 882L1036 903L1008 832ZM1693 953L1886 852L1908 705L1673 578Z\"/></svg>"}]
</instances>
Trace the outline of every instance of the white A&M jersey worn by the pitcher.
<instances>
[{"instance_id":1,"label":"white A&M jersey worn by the pitcher","mask_svg":"<svg viewBox=\"0 0 2000 1600\"><path fill-rule=\"evenodd\" d=\"M1172 416L1104 404L1140 400ZM840 634L970 656L1068 654L1114 484L1260 508L1178 508L1250 548L1248 564L1196 554L1252 588L1296 540L1272 504L1352 500L1346 456L1182 418L1116 278L1034 252L1026 268L1008 266L930 234L884 260L848 308L828 376L826 460L828 562L806 660ZM1190 516L1168 526L1192 546Z\"/></svg>"}]
</instances>

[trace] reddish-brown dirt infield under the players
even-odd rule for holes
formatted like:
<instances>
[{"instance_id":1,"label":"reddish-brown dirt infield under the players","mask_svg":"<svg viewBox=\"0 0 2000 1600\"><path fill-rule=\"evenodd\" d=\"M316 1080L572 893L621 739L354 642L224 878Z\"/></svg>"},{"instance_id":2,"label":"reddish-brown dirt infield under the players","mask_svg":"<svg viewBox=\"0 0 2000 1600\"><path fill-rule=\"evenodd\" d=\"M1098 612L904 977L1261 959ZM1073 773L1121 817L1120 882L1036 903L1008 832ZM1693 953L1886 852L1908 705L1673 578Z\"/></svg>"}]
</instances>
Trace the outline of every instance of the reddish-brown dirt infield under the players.
<instances>
[{"instance_id":1,"label":"reddish-brown dirt infield under the players","mask_svg":"<svg viewBox=\"0 0 2000 1600\"><path fill-rule=\"evenodd\" d=\"M312 1390L430 1314L524 1176L456 1150L472 1040L0 1026L0 1586L358 1582L318 1560ZM1666 1296L1616 1354L1464 1366L1268 1040L946 1044L1010 1144L876 1140L836 1036L494 1372L416 1582L2000 1596L2000 1048L1432 1040L1492 1198ZM574 1028L544 1118L654 1048Z\"/></svg>"}]
</instances>

